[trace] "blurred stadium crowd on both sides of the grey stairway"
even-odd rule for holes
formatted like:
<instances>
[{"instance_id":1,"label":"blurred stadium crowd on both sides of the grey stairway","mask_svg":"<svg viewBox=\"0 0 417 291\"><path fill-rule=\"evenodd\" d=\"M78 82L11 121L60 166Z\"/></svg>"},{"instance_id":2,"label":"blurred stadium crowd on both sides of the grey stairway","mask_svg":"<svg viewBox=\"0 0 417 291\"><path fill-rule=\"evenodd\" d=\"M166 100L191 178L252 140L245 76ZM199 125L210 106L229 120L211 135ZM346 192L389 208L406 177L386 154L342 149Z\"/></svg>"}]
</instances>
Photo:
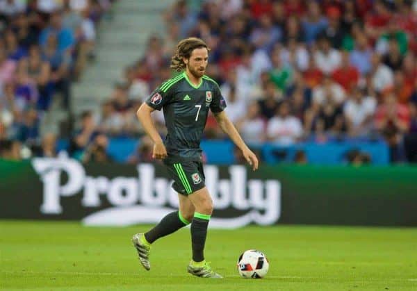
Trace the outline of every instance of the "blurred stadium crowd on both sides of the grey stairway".
<instances>
[{"instance_id":1,"label":"blurred stadium crowd on both sides of the grey stairway","mask_svg":"<svg viewBox=\"0 0 417 291\"><path fill-rule=\"evenodd\" d=\"M58 14L63 22L79 11L68 5L72 1L64 2ZM57 29L56 13L45 18L33 5L4 29L0 106L13 112L9 119L16 126L8 130L15 131L17 140L38 138L38 116L51 96L49 83L65 99L69 87L64 80L79 74L77 65L85 63L79 58L94 47L94 38L87 36L94 26L84 22L99 19L108 3L91 3L78 13L79 37L70 44L49 33ZM0 7L2 13L16 14L16 9ZM166 10L164 19L166 37L152 36L142 58L126 67L123 82L102 105L99 122L88 112L80 117L71 153L111 160L108 137L141 137L138 104L172 77L170 57L178 40L196 36L211 48L206 74L220 84L227 113L249 144L383 138L392 162L417 162L417 1L181 0ZM15 107L10 107L13 100ZM156 122L163 134L161 114ZM212 116L204 136L224 138ZM48 142L52 137L45 139L54 143ZM151 151L152 143L143 137L129 161L150 160ZM302 152L297 156L305 159Z\"/></svg>"}]
</instances>

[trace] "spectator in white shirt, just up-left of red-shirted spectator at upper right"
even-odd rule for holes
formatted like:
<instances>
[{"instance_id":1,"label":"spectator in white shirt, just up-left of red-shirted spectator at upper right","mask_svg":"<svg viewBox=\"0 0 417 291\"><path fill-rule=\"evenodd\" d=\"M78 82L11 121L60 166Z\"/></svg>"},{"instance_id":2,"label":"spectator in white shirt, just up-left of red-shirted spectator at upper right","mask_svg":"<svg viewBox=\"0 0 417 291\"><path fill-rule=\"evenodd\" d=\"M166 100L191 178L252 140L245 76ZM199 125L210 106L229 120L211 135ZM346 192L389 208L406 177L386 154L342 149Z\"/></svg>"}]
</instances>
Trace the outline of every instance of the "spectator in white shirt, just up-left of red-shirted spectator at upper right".
<instances>
[{"instance_id":1,"label":"spectator in white shirt, just up-left of red-shirted spectator at upper right","mask_svg":"<svg viewBox=\"0 0 417 291\"><path fill-rule=\"evenodd\" d=\"M314 53L314 59L323 74L331 74L341 65L341 53L330 46L330 41L325 36L318 41L318 51Z\"/></svg>"}]
</instances>

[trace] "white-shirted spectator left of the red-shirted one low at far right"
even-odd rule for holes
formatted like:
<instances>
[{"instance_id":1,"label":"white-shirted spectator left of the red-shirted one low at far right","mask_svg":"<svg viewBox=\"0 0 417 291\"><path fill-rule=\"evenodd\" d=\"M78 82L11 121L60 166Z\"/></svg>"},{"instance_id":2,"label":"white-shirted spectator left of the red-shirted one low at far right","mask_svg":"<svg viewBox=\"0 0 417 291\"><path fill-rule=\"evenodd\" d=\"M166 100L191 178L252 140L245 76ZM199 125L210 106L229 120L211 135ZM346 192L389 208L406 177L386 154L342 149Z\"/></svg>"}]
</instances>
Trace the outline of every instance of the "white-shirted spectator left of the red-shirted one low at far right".
<instances>
[{"instance_id":1,"label":"white-shirted spectator left of the red-shirted one low at far right","mask_svg":"<svg viewBox=\"0 0 417 291\"><path fill-rule=\"evenodd\" d=\"M352 96L343 108L347 131L350 135L365 135L370 132L377 102L374 97L365 97L362 90L354 88Z\"/></svg>"}]
</instances>

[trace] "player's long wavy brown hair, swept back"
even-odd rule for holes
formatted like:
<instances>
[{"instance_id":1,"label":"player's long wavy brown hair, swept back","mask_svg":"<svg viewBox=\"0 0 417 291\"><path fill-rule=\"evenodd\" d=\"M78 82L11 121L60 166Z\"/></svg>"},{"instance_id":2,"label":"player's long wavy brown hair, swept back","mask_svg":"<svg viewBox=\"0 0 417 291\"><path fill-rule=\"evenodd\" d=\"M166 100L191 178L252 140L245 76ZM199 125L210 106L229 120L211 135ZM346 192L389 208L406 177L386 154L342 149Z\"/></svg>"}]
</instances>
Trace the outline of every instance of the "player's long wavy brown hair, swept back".
<instances>
[{"instance_id":1,"label":"player's long wavy brown hair, swept back","mask_svg":"<svg viewBox=\"0 0 417 291\"><path fill-rule=\"evenodd\" d=\"M184 63L183 58L190 58L191 53L195 49L202 47L205 47L207 51L210 51L206 42L200 38L186 38L181 40L177 44L177 51L175 51L174 56L171 58L171 69L175 69L177 72L181 72L186 69L186 63Z\"/></svg>"}]
</instances>

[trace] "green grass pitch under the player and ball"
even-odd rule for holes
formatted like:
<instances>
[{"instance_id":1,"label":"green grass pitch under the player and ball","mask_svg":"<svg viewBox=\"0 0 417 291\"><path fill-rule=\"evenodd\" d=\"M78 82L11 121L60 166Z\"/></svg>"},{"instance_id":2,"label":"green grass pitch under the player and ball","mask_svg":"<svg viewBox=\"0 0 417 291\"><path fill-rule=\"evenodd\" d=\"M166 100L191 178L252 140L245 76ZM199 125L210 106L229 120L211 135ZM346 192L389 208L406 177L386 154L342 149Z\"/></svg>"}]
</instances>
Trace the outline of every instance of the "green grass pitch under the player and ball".
<instances>
[{"instance_id":1,"label":"green grass pitch under the player and ball","mask_svg":"<svg viewBox=\"0 0 417 291\"><path fill-rule=\"evenodd\" d=\"M0 290L417 290L417 228L249 226L209 230L206 258L223 279L186 272L190 230L155 242L152 270L130 239L149 226L0 221ZM238 276L236 260L259 249L263 279Z\"/></svg>"}]
</instances>

